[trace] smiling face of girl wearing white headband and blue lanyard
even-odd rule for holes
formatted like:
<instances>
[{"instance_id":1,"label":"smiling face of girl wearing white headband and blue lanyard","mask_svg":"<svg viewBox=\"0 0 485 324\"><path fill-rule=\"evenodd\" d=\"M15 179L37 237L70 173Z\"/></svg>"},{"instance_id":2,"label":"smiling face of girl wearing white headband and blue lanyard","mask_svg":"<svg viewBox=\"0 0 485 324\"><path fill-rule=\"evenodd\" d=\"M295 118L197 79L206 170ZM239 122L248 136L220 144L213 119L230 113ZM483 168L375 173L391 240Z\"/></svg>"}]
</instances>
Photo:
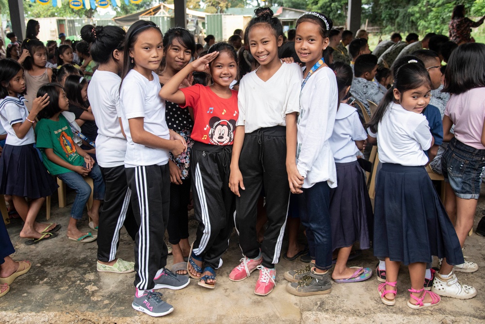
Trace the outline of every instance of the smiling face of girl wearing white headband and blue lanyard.
<instances>
[{"instance_id":1,"label":"smiling face of girl wearing white headband and blue lanyard","mask_svg":"<svg viewBox=\"0 0 485 324\"><path fill-rule=\"evenodd\" d=\"M320 34L320 26L309 21L298 24L296 28L295 50L300 60L312 67L323 56L322 52L328 46L328 38Z\"/></svg>"}]
</instances>

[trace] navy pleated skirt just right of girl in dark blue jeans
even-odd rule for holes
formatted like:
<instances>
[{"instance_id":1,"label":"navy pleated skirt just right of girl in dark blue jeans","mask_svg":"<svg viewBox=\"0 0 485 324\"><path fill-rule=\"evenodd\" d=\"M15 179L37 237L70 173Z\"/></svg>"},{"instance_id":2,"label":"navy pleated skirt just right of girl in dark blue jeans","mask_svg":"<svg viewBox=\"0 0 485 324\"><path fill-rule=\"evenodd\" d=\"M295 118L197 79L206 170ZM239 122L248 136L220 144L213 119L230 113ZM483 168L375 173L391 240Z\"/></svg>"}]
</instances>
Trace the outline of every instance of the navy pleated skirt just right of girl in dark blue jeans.
<instances>
[{"instance_id":1,"label":"navy pleated skirt just right of girl in dark blue jeans","mask_svg":"<svg viewBox=\"0 0 485 324\"><path fill-rule=\"evenodd\" d=\"M371 247L372 205L364 172L357 161L335 163L337 188L330 189L332 250L359 242Z\"/></svg>"}]
</instances>

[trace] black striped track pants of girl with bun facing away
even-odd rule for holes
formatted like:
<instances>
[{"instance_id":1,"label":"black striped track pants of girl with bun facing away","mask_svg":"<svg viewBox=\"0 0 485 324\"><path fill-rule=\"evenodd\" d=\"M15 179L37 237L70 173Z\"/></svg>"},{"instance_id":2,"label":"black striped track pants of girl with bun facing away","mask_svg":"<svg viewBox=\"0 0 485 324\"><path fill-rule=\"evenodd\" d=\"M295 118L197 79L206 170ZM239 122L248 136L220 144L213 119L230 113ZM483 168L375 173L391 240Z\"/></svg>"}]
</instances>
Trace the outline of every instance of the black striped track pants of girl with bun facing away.
<instances>
[{"instance_id":1,"label":"black striped track pants of girl with bun facing away","mask_svg":"<svg viewBox=\"0 0 485 324\"><path fill-rule=\"evenodd\" d=\"M99 168L106 184L106 193L99 213L97 259L110 262L116 259L121 227L125 226L134 240L138 226L131 209L131 190L126 182L125 166Z\"/></svg>"}]
</instances>

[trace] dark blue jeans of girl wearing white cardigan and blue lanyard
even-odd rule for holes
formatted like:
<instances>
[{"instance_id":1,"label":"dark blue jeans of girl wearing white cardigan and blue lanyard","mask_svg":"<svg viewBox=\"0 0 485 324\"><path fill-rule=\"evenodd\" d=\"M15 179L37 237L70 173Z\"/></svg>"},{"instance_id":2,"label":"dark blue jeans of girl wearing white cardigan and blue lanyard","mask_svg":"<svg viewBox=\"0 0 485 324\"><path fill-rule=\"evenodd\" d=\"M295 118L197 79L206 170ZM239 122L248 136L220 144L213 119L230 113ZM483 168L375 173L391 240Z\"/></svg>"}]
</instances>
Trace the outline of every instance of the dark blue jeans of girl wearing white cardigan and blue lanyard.
<instances>
[{"instance_id":1,"label":"dark blue jeans of girl wearing white cardigan and blue lanyard","mask_svg":"<svg viewBox=\"0 0 485 324\"><path fill-rule=\"evenodd\" d=\"M326 181L302 188L298 195L300 221L307 230L310 257L318 269L332 267L332 226L330 225L330 187Z\"/></svg>"}]
</instances>

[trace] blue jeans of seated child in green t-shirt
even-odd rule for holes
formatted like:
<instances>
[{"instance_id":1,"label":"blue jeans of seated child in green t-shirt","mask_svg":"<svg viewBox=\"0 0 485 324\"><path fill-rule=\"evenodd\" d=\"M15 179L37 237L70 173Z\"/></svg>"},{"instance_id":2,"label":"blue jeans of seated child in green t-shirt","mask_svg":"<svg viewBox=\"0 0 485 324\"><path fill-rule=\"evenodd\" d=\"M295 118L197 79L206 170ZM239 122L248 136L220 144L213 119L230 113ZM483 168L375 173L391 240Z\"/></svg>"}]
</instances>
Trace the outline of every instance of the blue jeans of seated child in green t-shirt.
<instances>
[{"instance_id":1,"label":"blue jeans of seated child in green t-shirt","mask_svg":"<svg viewBox=\"0 0 485 324\"><path fill-rule=\"evenodd\" d=\"M86 163L82 166L86 167ZM82 218L82 210L84 206L89 200L89 196L91 195L91 187L84 178L77 172L66 172L58 174L59 177L69 188L74 189L76 191L76 198L74 199L74 203L72 204L71 208L71 217L74 219L81 219ZM104 200L104 180L103 176L101 175L101 170L99 166L95 164L89 172L88 177L93 179L94 183L94 193L93 199L95 200Z\"/></svg>"}]
</instances>

